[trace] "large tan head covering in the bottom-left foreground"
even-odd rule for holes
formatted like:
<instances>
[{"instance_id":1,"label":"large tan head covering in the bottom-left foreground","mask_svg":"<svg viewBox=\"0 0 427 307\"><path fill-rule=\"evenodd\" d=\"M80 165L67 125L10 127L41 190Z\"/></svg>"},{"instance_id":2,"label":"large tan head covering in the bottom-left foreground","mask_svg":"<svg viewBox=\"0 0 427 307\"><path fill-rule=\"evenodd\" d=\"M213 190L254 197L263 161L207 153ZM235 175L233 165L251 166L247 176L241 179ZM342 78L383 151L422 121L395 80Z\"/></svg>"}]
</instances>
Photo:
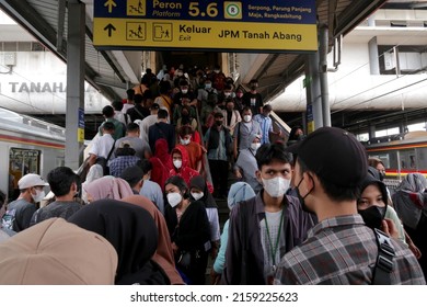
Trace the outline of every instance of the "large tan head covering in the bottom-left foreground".
<instances>
[{"instance_id":1,"label":"large tan head covering in the bottom-left foreground","mask_svg":"<svg viewBox=\"0 0 427 307\"><path fill-rule=\"evenodd\" d=\"M0 284L111 285L117 253L99 234L49 218L0 245Z\"/></svg>"}]
</instances>

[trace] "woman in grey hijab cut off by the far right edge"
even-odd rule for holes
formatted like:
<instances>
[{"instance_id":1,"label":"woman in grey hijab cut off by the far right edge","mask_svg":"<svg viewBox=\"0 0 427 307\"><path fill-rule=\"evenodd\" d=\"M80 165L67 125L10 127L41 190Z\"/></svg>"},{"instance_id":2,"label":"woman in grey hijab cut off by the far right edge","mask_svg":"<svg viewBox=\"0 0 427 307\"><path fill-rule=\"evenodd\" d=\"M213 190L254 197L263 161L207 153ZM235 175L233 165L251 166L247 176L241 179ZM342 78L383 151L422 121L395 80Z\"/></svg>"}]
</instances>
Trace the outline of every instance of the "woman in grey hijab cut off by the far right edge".
<instances>
[{"instance_id":1,"label":"woman in grey hijab cut off by the far right edge","mask_svg":"<svg viewBox=\"0 0 427 307\"><path fill-rule=\"evenodd\" d=\"M414 245L418 262L427 276L427 180L422 173L408 173L392 195L393 205ZM409 242L411 248L411 242ZM412 249L413 250L413 249ZM413 250L414 252L414 250ZM415 252L414 252L415 253ZM424 254L424 257L422 257ZM417 254L415 254L417 257Z\"/></svg>"}]
</instances>

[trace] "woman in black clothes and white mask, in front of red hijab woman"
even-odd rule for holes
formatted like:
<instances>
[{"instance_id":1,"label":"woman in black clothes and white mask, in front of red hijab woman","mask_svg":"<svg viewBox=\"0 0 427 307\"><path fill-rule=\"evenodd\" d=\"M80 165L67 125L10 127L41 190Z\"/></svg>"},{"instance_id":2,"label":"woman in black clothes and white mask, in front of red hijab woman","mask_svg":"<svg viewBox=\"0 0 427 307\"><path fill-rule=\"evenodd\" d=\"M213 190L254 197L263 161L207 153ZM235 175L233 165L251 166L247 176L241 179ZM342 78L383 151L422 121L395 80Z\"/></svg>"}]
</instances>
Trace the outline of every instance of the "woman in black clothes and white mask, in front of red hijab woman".
<instances>
[{"instance_id":1,"label":"woman in black clothes and white mask, in front of red hijab woman","mask_svg":"<svg viewBox=\"0 0 427 307\"><path fill-rule=\"evenodd\" d=\"M184 179L166 180L168 198L164 218L171 236L176 269L187 284L204 285L210 240L209 220L201 202L192 202Z\"/></svg>"}]
</instances>

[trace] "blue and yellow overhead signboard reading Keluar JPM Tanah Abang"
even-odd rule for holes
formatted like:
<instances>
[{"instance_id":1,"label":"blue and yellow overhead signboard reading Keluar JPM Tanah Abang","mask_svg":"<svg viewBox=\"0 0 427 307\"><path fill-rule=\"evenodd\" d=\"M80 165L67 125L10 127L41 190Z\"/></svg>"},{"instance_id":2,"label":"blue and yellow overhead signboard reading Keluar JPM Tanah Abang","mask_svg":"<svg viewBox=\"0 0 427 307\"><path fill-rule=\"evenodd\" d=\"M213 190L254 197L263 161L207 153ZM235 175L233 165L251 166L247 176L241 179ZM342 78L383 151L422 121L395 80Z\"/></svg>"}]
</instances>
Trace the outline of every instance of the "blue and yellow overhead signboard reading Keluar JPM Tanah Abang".
<instances>
[{"instance_id":1,"label":"blue and yellow overhead signboard reading Keluar JPM Tanah Abang","mask_svg":"<svg viewBox=\"0 0 427 307\"><path fill-rule=\"evenodd\" d=\"M318 49L315 0L94 0L100 48Z\"/></svg>"}]
</instances>

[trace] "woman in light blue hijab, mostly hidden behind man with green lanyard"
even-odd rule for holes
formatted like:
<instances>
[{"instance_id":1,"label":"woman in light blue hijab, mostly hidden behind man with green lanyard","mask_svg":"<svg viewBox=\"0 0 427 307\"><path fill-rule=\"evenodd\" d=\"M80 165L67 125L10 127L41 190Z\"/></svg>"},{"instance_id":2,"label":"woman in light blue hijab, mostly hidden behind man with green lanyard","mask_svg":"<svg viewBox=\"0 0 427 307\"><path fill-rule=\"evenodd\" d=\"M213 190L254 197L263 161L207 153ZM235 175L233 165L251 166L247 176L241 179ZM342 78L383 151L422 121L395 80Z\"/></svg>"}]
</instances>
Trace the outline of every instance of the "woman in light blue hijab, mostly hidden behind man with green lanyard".
<instances>
[{"instance_id":1,"label":"woman in light blue hijab, mostly hidden behind man with green lanyard","mask_svg":"<svg viewBox=\"0 0 427 307\"><path fill-rule=\"evenodd\" d=\"M234 207L236 203L247 201L255 197L255 192L246 182L236 182L230 186L229 195L227 203L229 209ZM212 284L218 284L221 280L221 274L223 271L223 265L226 263L226 250L227 242L229 240L229 219L227 219L223 225L222 235L221 235L221 248L219 249L218 257L215 260L214 268L210 271L210 276Z\"/></svg>"}]
</instances>

